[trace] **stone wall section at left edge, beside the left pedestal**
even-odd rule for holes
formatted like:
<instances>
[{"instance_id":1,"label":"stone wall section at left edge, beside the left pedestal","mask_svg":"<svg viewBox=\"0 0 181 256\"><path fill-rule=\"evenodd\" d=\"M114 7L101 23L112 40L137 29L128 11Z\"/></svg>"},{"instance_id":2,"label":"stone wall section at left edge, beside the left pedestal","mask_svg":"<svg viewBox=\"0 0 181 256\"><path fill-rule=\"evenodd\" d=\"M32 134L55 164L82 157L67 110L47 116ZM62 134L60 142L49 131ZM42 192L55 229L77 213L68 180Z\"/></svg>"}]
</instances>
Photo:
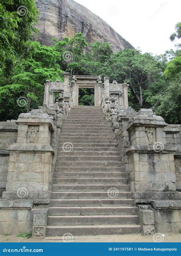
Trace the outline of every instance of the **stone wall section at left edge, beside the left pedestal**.
<instances>
[{"instance_id":1,"label":"stone wall section at left edge, beside the left pedestal","mask_svg":"<svg viewBox=\"0 0 181 256\"><path fill-rule=\"evenodd\" d=\"M10 144L16 142L18 126L15 122L0 122L0 197L6 189Z\"/></svg>"}]
</instances>

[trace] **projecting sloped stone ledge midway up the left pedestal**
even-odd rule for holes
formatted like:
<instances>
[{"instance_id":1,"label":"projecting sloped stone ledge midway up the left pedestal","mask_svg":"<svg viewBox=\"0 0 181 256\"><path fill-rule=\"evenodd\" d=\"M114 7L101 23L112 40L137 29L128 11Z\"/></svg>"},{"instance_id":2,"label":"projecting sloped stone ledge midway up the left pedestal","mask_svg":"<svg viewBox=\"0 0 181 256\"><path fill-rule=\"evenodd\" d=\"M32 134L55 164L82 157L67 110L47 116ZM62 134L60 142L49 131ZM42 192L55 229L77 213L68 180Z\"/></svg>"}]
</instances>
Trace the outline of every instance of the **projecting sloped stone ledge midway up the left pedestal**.
<instances>
[{"instance_id":1,"label":"projecting sloped stone ledge midway up the left pedestal","mask_svg":"<svg viewBox=\"0 0 181 256\"><path fill-rule=\"evenodd\" d=\"M9 151L18 151L18 152L29 152L33 151L36 153L44 153L44 152L51 152L51 154L54 154L54 150L49 144L35 144L35 143L15 143L8 147Z\"/></svg>"}]
</instances>

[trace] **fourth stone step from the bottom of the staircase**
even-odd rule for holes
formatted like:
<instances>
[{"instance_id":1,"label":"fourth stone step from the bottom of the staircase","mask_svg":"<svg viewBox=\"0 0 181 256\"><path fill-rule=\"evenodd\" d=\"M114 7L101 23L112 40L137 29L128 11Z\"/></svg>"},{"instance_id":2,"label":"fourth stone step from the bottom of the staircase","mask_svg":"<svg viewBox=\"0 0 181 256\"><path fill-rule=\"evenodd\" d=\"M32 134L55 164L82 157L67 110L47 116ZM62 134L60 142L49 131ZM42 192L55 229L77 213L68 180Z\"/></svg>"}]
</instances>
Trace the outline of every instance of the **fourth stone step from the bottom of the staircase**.
<instances>
[{"instance_id":1,"label":"fourth stone step from the bottom of the staircase","mask_svg":"<svg viewBox=\"0 0 181 256\"><path fill-rule=\"evenodd\" d=\"M51 199L50 207L57 206L133 206L133 199Z\"/></svg>"}]
</instances>

